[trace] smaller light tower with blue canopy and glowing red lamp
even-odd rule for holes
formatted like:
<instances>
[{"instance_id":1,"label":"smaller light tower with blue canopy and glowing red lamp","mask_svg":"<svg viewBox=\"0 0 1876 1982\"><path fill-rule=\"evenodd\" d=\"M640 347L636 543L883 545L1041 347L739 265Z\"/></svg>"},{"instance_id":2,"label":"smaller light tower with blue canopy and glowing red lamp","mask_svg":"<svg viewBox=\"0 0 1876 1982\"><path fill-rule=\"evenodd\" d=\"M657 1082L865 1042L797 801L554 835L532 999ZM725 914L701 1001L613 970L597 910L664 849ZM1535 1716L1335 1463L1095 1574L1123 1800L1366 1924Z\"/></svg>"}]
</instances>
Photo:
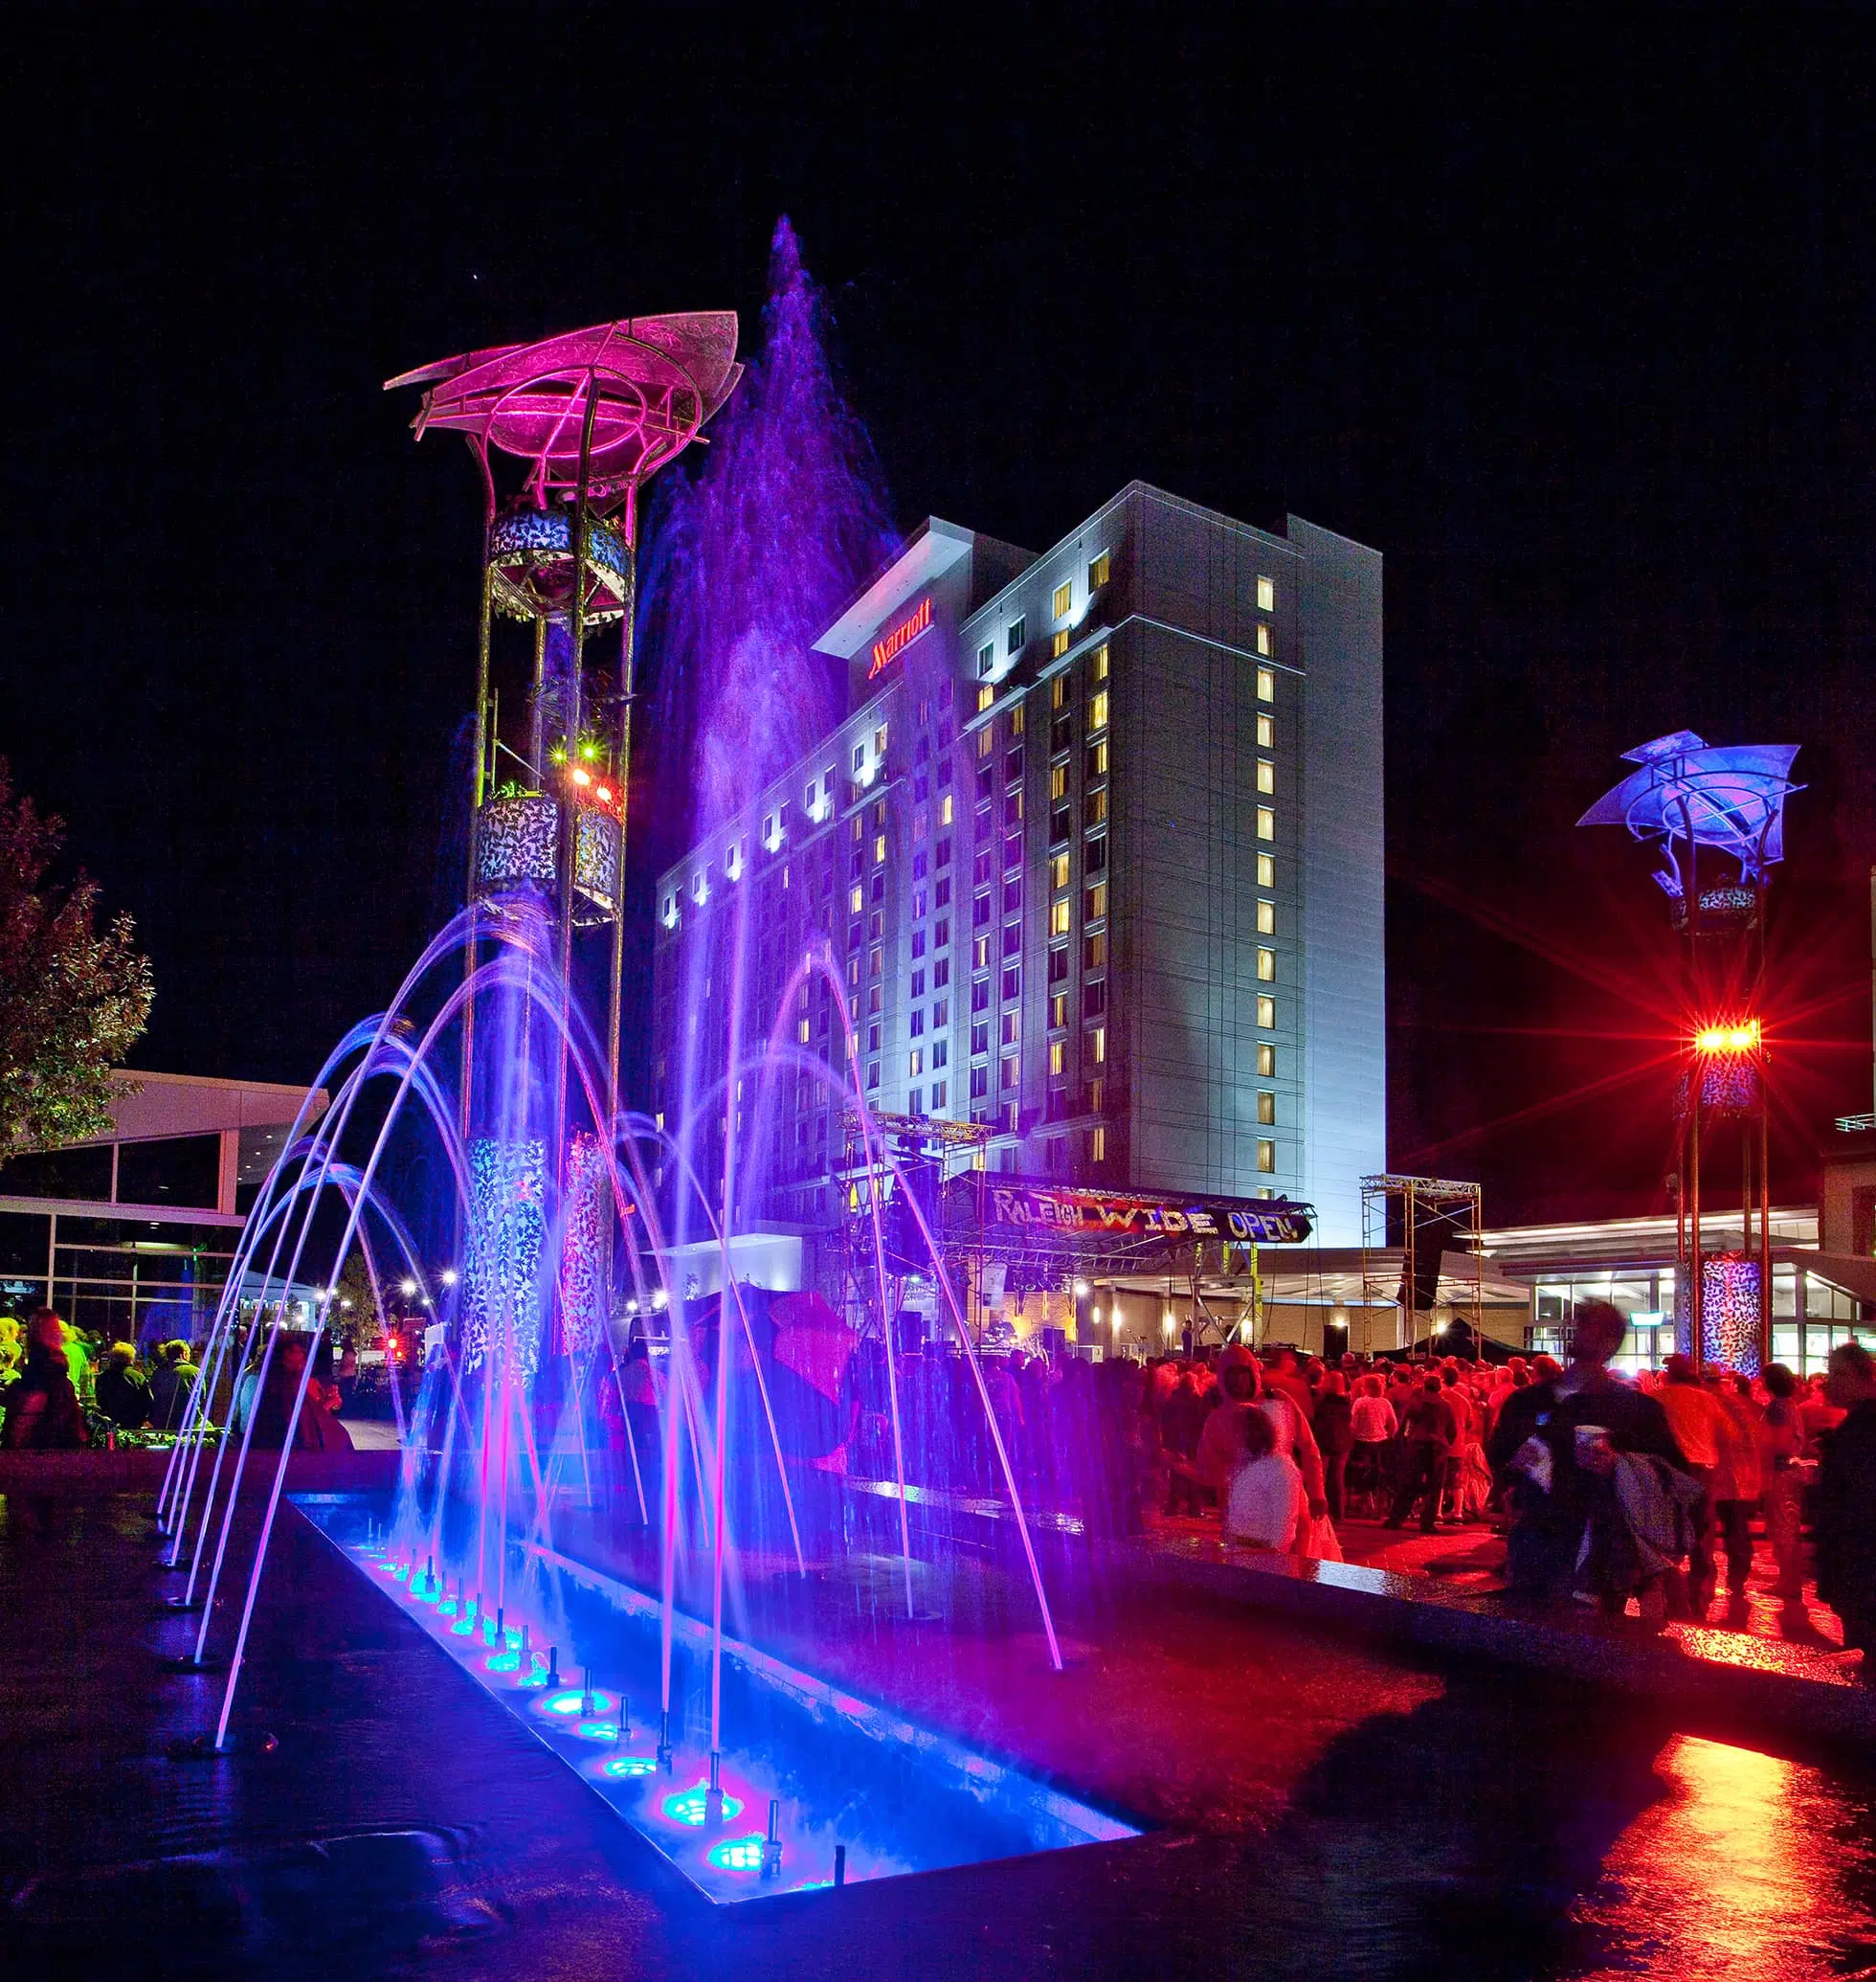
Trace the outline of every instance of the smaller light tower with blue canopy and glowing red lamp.
<instances>
[{"instance_id":1,"label":"smaller light tower with blue canopy and glowing red lamp","mask_svg":"<svg viewBox=\"0 0 1876 1982\"><path fill-rule=\"evenodd\" d=\"M1710 745L1676 729L1626 751L1640 769L1577 821L1626 826L1660 856L1654 880L1680 937L1686 1011L1676 1082L1676 1346L1696 1364L1723 1362L1749 1376L1771 1358L1765 912L1771 868L1785 858L1785 801L1803 789L1791 779L1797 753L1795 743ZM1731 872L1714 872L1716 856ZM1702 1185L1725 1142L1739 1150L1739 1247L1708 1251Z\"/></svg>"}]
</instances>

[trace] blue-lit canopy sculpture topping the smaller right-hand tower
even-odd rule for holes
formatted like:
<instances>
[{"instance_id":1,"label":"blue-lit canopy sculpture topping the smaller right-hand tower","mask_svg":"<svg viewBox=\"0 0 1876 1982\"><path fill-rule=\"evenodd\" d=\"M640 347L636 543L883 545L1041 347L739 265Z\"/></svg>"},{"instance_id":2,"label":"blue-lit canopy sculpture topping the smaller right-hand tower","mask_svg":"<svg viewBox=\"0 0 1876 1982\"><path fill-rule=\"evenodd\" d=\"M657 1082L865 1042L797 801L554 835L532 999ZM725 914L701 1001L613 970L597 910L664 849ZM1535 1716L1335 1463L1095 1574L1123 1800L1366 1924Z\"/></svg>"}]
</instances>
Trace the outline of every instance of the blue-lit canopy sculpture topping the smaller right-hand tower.
<instances>
[{"instance_id":1,"label":"blue-lit canopy sculpture topping the smaller right-hand tower","mask_svg":"<svg viewBox=\"0 0 1876 1982\"><path fill-rule=\"evenodd\" d=\"M1755 890L1765 870L1785 858L1785 799L1801 789L1791 781L1797 753L1797 743L1706 743L1692 729L1676 729L1624 751L1640 769L1605 791L1577 825L1626 826L1644 844L1660 846L1664 864L1654 878L1674 902L1686 896L1700 846L1737 860L1739 886ZM1688 874L1676 840L1688 844Z\"/></svg>"}]
</instances>

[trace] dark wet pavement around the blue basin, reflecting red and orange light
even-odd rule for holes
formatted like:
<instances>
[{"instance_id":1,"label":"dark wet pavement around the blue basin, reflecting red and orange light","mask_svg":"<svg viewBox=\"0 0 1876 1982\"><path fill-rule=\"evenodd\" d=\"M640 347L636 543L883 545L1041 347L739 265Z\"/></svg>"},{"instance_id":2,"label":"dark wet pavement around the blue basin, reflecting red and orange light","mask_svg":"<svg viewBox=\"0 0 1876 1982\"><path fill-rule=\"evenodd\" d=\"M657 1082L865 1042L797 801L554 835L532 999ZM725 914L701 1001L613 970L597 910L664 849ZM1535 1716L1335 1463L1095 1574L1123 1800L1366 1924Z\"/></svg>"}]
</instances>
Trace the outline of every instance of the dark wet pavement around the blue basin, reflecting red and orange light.
<instances>
[{"instance_id":1,"label":"dark wet pavement around the blue basin, reflecting red and orange light","mask_svg":"<svg viewBox=\"0 0 1876 1982\"><path fill-rule=\"evenodd\" d=\"M987 1601L981 1637L935 1655L880 1627L862 1582L830 1582L804 1627L822 1671L1149 1833L711 1909L299 1516L275 1538L242 1746L176 1758L220 1681L158 1665L188 1621L156 1603L147 1506L69 1506L52 1540L0 1506L10 1974L1876 1968L1860 1758L1167 1590L1064 1592L1070 1661L1050 1675L1018 1601Z\"/></svg>"}]
</instances>

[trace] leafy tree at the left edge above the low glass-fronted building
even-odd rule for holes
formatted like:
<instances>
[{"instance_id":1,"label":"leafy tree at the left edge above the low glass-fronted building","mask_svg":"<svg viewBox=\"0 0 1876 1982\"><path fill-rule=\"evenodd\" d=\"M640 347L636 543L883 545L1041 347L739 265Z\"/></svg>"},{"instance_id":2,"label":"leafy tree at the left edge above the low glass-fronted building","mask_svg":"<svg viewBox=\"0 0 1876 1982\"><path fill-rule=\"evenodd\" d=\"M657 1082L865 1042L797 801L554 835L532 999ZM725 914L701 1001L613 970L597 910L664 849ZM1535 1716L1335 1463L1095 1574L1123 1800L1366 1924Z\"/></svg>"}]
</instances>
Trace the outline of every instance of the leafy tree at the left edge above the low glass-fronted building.
<instances>
[{"instance_id":1,"label":"leafy tree at the left edge above the low glass-fronted building","mask_svg":"<svg viewBox=\"0 0 1876 1982\"><path fill-rule=\"evenodd\" d=\"M46 880L63 844L0 757L0 1159L109 1134L111 1068L156 995L131 918L97 932L97 882Z\"/></svg>"}]
</instances>

